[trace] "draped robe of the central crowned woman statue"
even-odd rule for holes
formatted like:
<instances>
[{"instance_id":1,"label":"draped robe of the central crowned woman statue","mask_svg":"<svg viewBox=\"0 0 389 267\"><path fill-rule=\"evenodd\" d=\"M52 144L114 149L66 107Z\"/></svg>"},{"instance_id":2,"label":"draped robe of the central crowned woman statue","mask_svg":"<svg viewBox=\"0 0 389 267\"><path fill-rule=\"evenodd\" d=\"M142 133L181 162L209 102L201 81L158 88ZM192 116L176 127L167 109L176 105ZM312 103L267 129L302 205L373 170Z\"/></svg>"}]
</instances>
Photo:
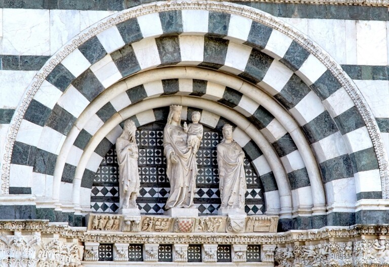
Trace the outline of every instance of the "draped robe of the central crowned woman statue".
<instances>
[{"instance_id":1,"label":"draped robe of the central crowned woman statue","mask_svg":"<svg viewBox=\"0 0 389 267\"><path fill-rule=\"evenodd\" d=\"M170 181L170 195L166 209L172 207L195 207L196 155L188 148L187 134L181 126L167 125L164 129L164 153L167 161L166 174ZM174 152L178 163L174 164L170 154Z\"/></svg>"}]
</instances>

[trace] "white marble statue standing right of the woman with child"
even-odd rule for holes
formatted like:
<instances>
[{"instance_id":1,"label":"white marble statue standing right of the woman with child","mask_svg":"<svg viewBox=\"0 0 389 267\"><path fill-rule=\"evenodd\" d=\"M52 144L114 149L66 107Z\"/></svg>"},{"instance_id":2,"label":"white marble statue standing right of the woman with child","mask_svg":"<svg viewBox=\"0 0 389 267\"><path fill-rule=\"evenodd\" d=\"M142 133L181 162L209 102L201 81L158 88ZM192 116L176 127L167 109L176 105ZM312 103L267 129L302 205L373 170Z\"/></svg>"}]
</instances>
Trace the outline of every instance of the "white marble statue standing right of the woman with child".
<instances>
[{"instance_id":1,"label":"white marble statue standing right of the woman with child","mask_svg":"<svg viewBox=\"0 0 389 267\"><path fill-rule=\"evenodd\" d=\"M219 168L219 190L221 205L219 211L235 210L245 213L245 194L247 190L244 169L245 153L232 138L232 126L223 126L223 139L217 145L217 164Z\"/></svg>"}]
</instances>

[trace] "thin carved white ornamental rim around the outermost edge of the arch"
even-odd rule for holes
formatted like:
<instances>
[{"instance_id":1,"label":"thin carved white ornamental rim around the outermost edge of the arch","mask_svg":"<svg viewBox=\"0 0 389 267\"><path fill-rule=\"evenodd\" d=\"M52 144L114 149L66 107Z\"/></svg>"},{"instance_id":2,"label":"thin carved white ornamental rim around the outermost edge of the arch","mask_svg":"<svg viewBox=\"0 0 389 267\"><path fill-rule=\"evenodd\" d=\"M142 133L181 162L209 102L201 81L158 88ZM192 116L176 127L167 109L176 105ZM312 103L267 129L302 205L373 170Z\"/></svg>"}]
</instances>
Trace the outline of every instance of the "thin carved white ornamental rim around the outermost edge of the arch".
<instances>
[{"instance_id":1,"label":"thin carved white ornamental rim around the outermost edge of the arch","mask_svg":"<svg viewBox=\"0 0 389 267\"><path fill-rule=\"evenodd\" d=\"M315 1L313 1L315 2ZM325 1L323 1L325 2ZM344 3L344 1L340 1ZM347 3L350 1L346 1ZM366 2L366 1L365 1ZM354 3L354 2L353 2ZM360 3L360 2L358 2ZM375 1L371 0L366 2L368 4L386 4L386 0ZM74 49L79 47L81 44L95 36L96 34L102 32L103 30L116 25L120 22L126 21L131 18L135 18L141 15L162 12L162 11L171 11L171 10L185 10L185 9L197 9L197 10L209 10L216 12L224 12L229 14L237 14L259 23L262 23L266 26L269 26L273 29L277 29L287 36L291 37L305 49L310 51L314 56L316 56L327 68L328 70L336 77L339 83L347 91L349 96L353 99L358 111L360 112L370 135L370 138L374 144L374 149L378 159L381 183L382 183L382 194L383 198L389 197L389 171L388 171L388 161L386 154L383 149L383 143L379 135L379 130L376 124L376 121L372 115L372 112L368 108L368 105L365 99L362 97L358 88L354 82L348 77L348 75L342 70L340 65L338 65L324 50L322 50L317 44L309 40L305 35L298 32L294 28L285 24L282 20L273 17L269 14L261 12L250 7L240 6L232 3L220 3L214 1L207 2L197 2L197 1L180 1L180 2L159 2L152 3L147 5L142 5L139 7L134 7L122 12L115 13L110 17L107 17L102 22L97 25L91 26L89 29L84 30L74 39L70 40L66 45L63 46L39 71L33 78L32 83L28 86L22 103L20 104L15 117L13 118L10 126L10 130L7 136L7 142L5 147L5 153L3 158L3 174L2 174L2 190L3 194L9 193L9 176L10 176L10 162L12 149L15 142L16 134L19 130L20 123L26 112L26 109L31 102L32 97L36 91L40 88L45 78L49 73Z\"/></svg>"}]
</instances>

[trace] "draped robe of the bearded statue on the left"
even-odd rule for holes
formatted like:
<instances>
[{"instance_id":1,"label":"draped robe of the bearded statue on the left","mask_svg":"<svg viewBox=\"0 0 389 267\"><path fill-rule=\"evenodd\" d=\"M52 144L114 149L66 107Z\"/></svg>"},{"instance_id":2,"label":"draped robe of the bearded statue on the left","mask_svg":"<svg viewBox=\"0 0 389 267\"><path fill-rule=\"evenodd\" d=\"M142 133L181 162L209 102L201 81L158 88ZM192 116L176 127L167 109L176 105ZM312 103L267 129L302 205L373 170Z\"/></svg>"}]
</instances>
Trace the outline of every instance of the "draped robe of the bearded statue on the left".
<instances>
[{"instance_id":1,"label":"draped robe of the bearded statue on the left","mask_svg":"<svg viewBox=\"0 0 389 267\"><path fill-rule=\"evenodd\" d=\"M140 182L138 173L138 156L131 157L132 153L138 155L138 146L119 136L116 139L116 153L120 176L120 203L123 205L126 192L134 192L139 196Z\"/></svg>"}]
</instances>

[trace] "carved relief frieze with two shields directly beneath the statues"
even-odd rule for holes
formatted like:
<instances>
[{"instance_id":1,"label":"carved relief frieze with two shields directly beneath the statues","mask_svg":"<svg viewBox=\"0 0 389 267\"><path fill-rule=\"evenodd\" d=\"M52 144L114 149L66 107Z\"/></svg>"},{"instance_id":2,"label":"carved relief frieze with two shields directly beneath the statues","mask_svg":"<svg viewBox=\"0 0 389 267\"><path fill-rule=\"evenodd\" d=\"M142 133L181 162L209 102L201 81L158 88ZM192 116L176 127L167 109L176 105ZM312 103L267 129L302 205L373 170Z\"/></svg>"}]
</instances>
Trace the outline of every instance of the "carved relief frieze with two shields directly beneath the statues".
<instances>
[{"instance_id":1,"label":"carved relief frieze with two shields directly beneath the statues","mask_svg":"<svg viewBox=\"0 0 389 267\"><path fill-rule=\"evenodd\" d=\"M88 230L160 233L276 233L278 216L125 216L89 213Z\"/></svg>"}]
</instances>

